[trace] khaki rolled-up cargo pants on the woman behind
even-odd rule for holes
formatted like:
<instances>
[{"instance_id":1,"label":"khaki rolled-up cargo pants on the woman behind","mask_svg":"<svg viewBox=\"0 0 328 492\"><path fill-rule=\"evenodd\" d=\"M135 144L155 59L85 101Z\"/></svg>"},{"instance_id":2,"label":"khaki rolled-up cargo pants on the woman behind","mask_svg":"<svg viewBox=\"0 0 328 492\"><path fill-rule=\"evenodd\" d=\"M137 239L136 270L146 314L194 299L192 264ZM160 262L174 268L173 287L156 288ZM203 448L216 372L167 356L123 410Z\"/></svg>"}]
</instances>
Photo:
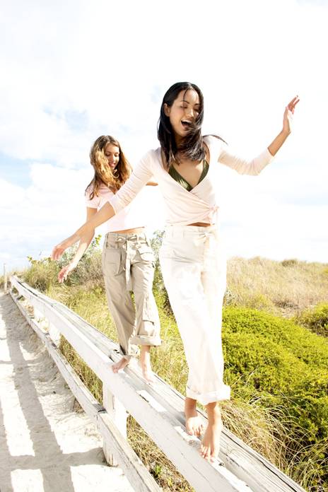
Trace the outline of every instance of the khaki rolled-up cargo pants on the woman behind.
<instances>
[{"instance_id":1,"label":"khaki rolled-up cargo pants on the woman behind","mask_svg":"<svg viewBox=\"0 0 328 492\"><path fill-rule=\"evenodd\" d=\"M145 233L105 236L102 272L107 303L125 358L137 355L137 345L160 345L160 321L153 296L154 261Z\"/></svg>"}]
</instances>

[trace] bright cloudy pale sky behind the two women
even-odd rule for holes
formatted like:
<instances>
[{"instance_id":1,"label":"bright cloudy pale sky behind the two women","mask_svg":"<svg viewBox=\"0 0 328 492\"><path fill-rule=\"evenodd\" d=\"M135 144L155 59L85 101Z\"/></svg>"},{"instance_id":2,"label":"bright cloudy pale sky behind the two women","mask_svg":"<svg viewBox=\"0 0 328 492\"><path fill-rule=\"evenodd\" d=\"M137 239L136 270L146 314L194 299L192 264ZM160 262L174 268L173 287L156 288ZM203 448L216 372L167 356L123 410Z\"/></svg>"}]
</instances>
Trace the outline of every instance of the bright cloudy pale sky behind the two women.
<instances>
[{"instance_id":1,"label":"bright cloudy pale sky behind the two women","mask_svg":"<svg viewBox=\"0 0 328 492\"><path fill-rule=\"evenodd\" d=\"M204 93L204 134L247 157L300 96L261 175L218 164L221 228L228 257L328 262L327 23L328 0L2 1L0 268L47 257L83 223L99 135L115 136L132 165L158 147L160 104L177 81ZM158 189L144 200L150 233L163 229Z\"/></svg>"}]
</instances>

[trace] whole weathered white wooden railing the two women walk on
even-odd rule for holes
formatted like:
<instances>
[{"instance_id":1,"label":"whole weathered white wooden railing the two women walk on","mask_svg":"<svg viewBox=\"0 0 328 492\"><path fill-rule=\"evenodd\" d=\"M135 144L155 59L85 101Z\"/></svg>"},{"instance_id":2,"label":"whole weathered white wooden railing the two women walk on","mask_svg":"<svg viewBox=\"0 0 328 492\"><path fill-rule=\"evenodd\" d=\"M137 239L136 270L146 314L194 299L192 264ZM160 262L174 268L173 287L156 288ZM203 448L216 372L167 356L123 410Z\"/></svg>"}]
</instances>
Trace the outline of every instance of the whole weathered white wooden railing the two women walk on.
<instances>
[{"instance_id":1,"label":"whole weathered white wooden railing the two women walk on","mask_svg":"<svg viewBox=\"0 0 328 492\"><path fill-rule=\"evenodd\" d=\"M161 489L127 443L127 414L144 428L195 491L303 491L227 429L221 436L219 459L214 463L207 462L199 455L199 439L185 432L182 394L157 375L156 382L147 385L134 368L128 367L124 372L114 374L110 366L120 358L115 342L68 307L36 291L16 276L11 276L10 281L11 297L45 343L86 414L98 426L107 462L119 464L136 491ZM102 380L102 404L90 394L59 351L61 335ZM206 416L200 411L199 415L206 425Z\"/></svg>"}]
</instances>

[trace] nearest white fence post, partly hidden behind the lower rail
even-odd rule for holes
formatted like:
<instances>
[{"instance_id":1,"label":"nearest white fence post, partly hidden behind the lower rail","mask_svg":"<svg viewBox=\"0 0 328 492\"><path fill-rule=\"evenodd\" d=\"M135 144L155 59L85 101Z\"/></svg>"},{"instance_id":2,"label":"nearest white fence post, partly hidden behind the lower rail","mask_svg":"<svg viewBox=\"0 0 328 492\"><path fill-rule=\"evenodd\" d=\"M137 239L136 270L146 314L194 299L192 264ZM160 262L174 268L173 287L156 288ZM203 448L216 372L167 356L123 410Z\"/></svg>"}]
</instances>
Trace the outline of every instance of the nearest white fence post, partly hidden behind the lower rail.
<instances>
[{"instance_id":1,"label":"nearest white fence post, partly hidden behind the lower rail","mask_svg":"<svg viewBox=\"0 0 328 492\"><path fill-rule=\"evenodd\" d=\"M102 384L102 405L124 439L127 439L127 410L104 383ZM116 467L118 463L106 443L104 443L103 450L107 463Z\"/></svg>"}]
</instances>

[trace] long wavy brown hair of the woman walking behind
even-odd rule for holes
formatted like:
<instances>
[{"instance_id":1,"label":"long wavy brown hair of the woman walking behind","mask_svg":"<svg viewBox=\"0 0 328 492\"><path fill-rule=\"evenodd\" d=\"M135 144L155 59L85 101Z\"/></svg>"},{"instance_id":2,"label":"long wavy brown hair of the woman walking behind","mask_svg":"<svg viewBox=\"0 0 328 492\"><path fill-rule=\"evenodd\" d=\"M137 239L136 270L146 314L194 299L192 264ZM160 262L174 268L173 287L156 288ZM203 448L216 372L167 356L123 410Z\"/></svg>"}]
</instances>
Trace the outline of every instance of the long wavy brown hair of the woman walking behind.
<instances>
[{"instance_id":1,"label":"long wavy brown hair of the woman walking behind","mask_svg":"<svg viewBox=\"0 0 328 492\"><path fill-rule=\"evenodd\" d=\"M105 156L107 144L112 144L119 148L119 162L114 170L108 165ZM90 163L95 170L93 179L86 187L86 193L90 194L90 200L92 200L93 197L99 196L99 189L102 184L106 185L113 193L117 192L131 174L131 166L124 156L119 141L111 135L98 136L98 139L95 140L90 149Z\"/></svg>"}]
</instances>

